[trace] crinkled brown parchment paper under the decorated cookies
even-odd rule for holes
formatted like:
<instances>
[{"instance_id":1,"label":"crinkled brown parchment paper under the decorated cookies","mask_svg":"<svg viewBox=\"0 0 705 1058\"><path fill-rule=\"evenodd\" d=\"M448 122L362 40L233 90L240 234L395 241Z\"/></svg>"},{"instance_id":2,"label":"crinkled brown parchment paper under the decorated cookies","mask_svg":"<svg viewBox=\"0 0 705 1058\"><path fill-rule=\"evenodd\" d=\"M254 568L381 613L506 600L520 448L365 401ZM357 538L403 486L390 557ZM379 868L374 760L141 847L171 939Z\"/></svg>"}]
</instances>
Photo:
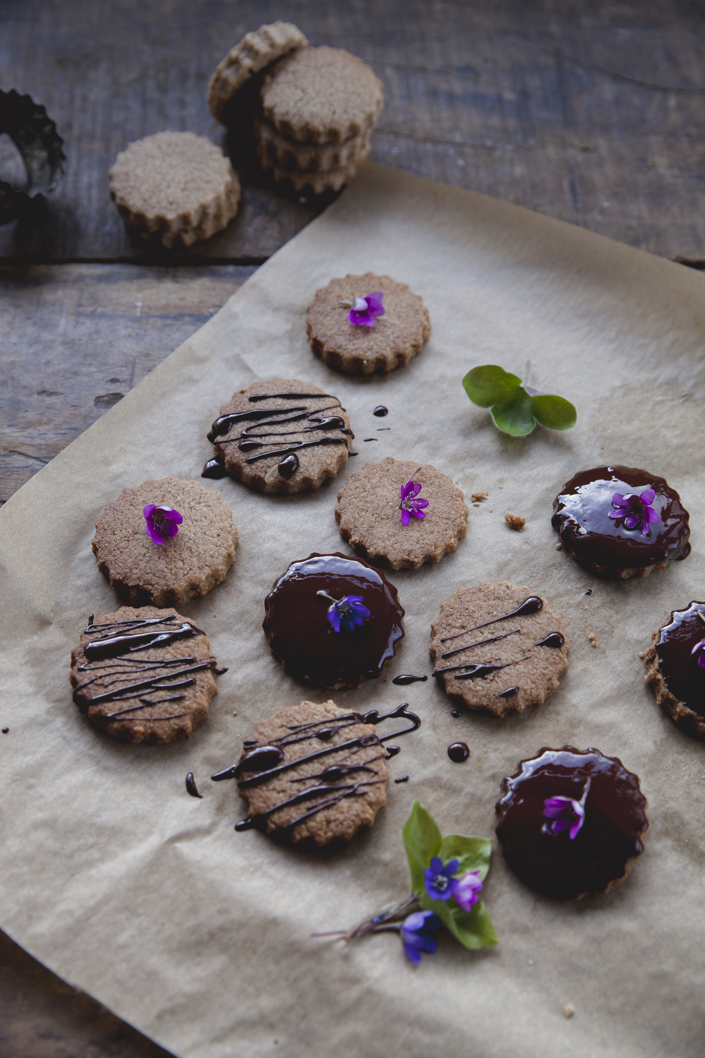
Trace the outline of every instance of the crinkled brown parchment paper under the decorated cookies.
<instances>
[{"instance_id":1,"label":"crinkled brown parchment paper under the decorated cookies","mask_svg":"<svg viewBox=\"0 0 705 1058\"><path fill-rule=\"evenodd\" d=\"M409 367L356 379L310 351L305 309L347 272L408 281L432 334ZM182 1058L619 1058L703 1053L705 749L655 705L638 652L670 609L703 599L703 276L559 221L367 165L344 196L0 512L3 695L1 925L68 981ZM568 433L501 435L461 386L498 363L578 408ZM208 482L240 531L227 580L184 613L221 664L210 715L188 743L122 746L71 700L68 660L88 615L117 605L91 553L97 515L125 486L198 478L206 431L236 388L270 376L337 394L355 450L333 486L265 497ZM381 420L376 404L389 407ZM391 427L377 432L379 426ZM376 437L378 440L365 441ZM307 855L235 834L244 808L211 772L258 717L312 697L272 658L272 583L312 551L347 551L333 517L346 473L386 455L432 462L465 491L467 536L440 565L390 574L406 639L384 678L335 693L344 708L408 700L423 717L390 762L389 803L344 852ZM691 513L693 551L647 580L606 584L555 548L551 504L578 470L652 469ZM504 512L526 517L522 533ZM432 516L432 512L431 512ZM571 669L542 707L465 714L433 681L429 625L462 584L508 579L562 616ZM583 592L592 589L592 595ZM593 649L588 633L593 632ZM237 711L237 716L234 716ZM466 741L464 765L448 744ZM401 829L414 797L444 833L491 835L502 777L542 746L596 746L642 779L651 829L630 878L557 904L508 871L497 845L484 897L501 945L449 936L410 966L393 934L348 950L312 940L408 892ZM192 770L202 801L184 788ZM563 1006L575 1006L567 1020Z\"/></svg>"}]
</instances>

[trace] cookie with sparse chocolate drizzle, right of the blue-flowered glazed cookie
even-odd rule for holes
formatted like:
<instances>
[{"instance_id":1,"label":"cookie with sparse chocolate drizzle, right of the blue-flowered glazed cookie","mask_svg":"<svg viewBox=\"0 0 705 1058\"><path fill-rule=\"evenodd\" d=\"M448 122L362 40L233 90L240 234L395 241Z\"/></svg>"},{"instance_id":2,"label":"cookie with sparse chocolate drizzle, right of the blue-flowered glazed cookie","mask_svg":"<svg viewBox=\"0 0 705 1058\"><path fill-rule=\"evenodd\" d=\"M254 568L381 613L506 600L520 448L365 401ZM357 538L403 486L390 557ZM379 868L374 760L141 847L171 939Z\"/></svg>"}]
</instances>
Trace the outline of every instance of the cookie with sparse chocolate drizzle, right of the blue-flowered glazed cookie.
<instances>
[{"instance_id":1,"label":"cookie with sparse chocolate drizzle, right of the blue-flowered glazed cookie","mask_svg":"<svg viewBox=\"0 0 705 1058\"><path fill-rule=\"evenodd\" d=\"M563 622L508 581L459 588L441 604L431 637L433 675L446 694L494 716L540 706L568 672Z\"/></svg>"}]
</instances>

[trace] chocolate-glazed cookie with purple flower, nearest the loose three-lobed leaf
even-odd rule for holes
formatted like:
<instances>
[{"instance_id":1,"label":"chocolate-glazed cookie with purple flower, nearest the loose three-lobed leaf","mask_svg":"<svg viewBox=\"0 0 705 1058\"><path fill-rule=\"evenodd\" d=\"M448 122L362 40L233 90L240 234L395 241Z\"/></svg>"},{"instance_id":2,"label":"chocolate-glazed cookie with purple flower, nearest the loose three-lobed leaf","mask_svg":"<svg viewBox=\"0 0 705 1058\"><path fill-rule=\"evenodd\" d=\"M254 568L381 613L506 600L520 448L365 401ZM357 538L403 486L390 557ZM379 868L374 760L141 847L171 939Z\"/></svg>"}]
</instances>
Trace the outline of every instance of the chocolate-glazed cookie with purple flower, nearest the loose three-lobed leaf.
<instances>
[{"instance_id":1,"label":"chocolate-glazed cookie with purple flower, nearest the loose three-lobed leaf","mask_svg":"<svg viewBox=\"0 0 705 1058\"><path fill-rule=\"evenodd\" d=\"M688 512L663 477L635 467L581 471L553 505L551 524L573 558L605 580L648 577L690 554Z\"/></svg>"}]
</instances>

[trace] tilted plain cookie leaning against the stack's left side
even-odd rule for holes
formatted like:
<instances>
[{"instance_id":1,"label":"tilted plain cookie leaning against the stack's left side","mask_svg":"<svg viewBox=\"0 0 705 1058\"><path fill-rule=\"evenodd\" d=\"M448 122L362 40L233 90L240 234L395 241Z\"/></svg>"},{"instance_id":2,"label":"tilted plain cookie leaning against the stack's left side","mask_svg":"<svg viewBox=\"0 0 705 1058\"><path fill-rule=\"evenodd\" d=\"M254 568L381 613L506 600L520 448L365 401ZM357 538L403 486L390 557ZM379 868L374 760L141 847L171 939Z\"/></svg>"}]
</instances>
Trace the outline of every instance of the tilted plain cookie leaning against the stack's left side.
<instances>
[{"instance_id":1,"label":"tilted plain cookie leaning against the stack's left side","mask_svg":"<svg viewBox=\"0 0 705 1058\"><path fill-rule=\"evenodd\" d=\"M206 103L214 117L221 121L225 106L254 74L280 59L282 55L309 43L292 22L272 22L247 33L218 63L210 78Z\"/></svg>"}]
</instances>

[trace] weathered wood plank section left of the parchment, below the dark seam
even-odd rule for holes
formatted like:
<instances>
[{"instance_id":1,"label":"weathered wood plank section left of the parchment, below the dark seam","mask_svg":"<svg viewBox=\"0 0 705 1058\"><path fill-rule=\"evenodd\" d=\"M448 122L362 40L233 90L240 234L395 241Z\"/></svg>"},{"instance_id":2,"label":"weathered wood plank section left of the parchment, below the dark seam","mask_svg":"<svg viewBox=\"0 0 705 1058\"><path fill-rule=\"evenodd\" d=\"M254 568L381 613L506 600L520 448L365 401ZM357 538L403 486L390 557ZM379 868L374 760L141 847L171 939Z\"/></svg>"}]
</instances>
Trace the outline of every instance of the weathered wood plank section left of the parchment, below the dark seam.
<instances>
[{"instance_id":1,"label":"weathered wood plank section left of the parchment, below the dark seam","mask_svg":"<svg viewBox=\"0 0 705 1058\"><path fill-rule=\"evenodd\" d=\"M218 311L255 269L0 268L0 503Z\"/></svg>"}]
</instances>

